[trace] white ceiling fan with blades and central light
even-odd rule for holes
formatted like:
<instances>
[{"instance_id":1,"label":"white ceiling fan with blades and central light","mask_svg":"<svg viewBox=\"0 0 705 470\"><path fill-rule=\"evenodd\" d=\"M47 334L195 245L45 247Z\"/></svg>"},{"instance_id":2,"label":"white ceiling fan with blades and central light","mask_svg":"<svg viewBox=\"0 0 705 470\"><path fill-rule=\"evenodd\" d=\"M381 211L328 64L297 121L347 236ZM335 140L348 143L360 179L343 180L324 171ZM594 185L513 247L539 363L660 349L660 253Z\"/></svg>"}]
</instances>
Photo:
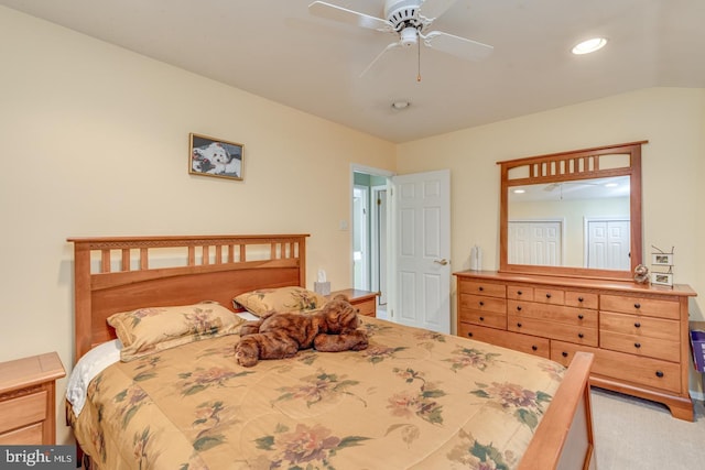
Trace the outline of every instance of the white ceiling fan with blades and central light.
<instances>
[{"instance_id":1,"label":"white ceiling fan with blades and central light","mask_svg":"<svg viewBox=\"0 0 705 470\"><path fill-rule=\"evenodd\" d=\"M454 55L469 61L479 61L487 57L494 50L492 46L477 41L459 37L442 31L427 31L438 17L446 12L456 0L386 0L384 19L371 17L354 10L348 10L332 3L314 1L308 6L308 12L313 15L328 20L352 24L382 33L392 33L399 37L389 44L375 59L362 70L364 76L384 55L397 47L411 47L416 45L421 53L421 44L435 51ZM421 80L419 74L417 80Z\"/></svg>"}]
</instances>

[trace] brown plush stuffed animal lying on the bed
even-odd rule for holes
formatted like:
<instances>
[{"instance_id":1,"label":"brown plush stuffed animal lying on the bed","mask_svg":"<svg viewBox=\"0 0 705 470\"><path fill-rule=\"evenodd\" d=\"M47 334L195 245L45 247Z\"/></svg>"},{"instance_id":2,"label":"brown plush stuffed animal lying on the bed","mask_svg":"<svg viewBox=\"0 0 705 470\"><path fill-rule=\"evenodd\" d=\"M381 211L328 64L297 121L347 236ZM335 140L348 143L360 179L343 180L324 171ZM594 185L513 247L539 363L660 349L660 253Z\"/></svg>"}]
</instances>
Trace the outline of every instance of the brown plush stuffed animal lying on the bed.
<instances>
[{"instance_id":1,"label":"brown plush stuffed animal lying on the bed","mask_svg":"<svg viewBox=\"0 0 705 470\"><path fill-rule=\"evenodd\" d=\"M367 348L367 334L358 330L357 310L347 297L337 295L313 314L270 313L240 327L235 347L238 364L250 368L259 359L283 359L300 349L318 351L360 351Z\"/></svg>"}]
</instances>

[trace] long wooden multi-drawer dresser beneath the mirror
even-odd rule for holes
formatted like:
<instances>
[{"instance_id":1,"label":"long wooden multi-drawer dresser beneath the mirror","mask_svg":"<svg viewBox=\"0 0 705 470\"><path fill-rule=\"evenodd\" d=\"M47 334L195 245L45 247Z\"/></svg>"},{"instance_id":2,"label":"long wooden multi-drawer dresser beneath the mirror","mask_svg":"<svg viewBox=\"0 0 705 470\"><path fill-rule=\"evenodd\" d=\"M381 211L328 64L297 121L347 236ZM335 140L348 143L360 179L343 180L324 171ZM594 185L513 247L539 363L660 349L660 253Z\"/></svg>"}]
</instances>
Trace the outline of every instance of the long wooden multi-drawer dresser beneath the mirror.
<instances>
[{"instance_id":1,"label":"long wooden multi-drawer dresser beneath the mirror","mask_svg":"<svg viewBox=\"0 0 705 470\"><path fill-rule=\"evenodd\" d=\"M590 383L669 406L693 420L687 285L463 271L457 334L567 365L595 354Z\"/></svg>"}]
</instances>

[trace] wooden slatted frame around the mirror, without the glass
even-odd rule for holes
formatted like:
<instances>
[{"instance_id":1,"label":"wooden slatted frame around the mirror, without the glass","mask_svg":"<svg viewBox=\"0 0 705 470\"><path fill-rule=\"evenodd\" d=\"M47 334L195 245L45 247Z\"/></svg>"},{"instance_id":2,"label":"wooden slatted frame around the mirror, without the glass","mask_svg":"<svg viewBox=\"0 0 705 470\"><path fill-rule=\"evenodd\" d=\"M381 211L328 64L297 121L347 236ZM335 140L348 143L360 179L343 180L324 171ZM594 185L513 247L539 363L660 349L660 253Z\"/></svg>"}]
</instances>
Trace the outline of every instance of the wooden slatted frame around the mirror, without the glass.
<instances>
[{"instance_id":1,"label":"wooden slatted frame around the mirror, without the glass","mask_svg":"<svg viewBox=\"0 0 705 470\"><path fill-rule=\"evenodd\" d=\"M542 274L570 277L594 277L607 280L633 280L634 267L642 263L641 227L641 145L648 141L623 143L595 149L530 156L525 159L497 162L501 166L500 227L499 227L499 271L507 273ZM600 156L629 155L628 166L600 168ZM529 176L510 179L509 172L527 167ZM545 266L509 264L509 188L542 183L560 183L609 176L629 176L630 182L630 260L631 271L598 270L574 266Z\"/></svg>"}]
</instances>

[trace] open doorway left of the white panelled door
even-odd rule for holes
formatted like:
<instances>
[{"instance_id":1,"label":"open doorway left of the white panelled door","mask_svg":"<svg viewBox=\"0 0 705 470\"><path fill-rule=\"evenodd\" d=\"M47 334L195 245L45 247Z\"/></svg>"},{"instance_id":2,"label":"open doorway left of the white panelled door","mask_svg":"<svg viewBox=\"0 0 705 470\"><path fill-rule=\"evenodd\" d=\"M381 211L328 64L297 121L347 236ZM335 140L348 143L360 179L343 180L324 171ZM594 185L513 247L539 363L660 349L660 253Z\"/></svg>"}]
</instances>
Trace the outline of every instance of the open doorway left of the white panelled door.
<instances>
[{"instance_id":1,"label":"open doorway left of the white panelled door","mask_svg":"<svg viewBox=\"0 0 705 470\"><path fill-rule=\"evenodd\" d=\"M387 318L389 172L352 167L352 280L354 287L378 292L377 315Z\"/></svg>"}]
</instances>

